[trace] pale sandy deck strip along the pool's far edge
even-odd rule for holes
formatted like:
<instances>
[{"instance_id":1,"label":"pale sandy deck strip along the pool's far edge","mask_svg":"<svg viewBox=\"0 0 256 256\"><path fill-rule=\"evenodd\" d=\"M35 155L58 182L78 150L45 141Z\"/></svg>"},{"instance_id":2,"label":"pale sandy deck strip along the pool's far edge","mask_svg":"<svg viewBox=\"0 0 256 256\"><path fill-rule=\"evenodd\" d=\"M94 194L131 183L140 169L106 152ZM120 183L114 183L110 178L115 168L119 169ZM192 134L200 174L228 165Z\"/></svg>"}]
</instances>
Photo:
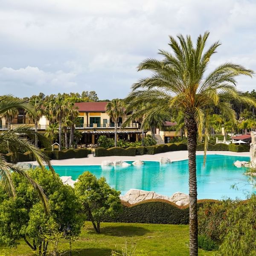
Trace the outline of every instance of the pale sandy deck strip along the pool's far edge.
<instances>
[{"instance_id":1,"label":"pale sandy deck strip along the pool's far edge","mask_svg":"<svg viewBox=\"0 0 256 256\"><path fill-rule=\"evenodd\" d=\"M204 154L204 151L197 151L197 155ZM230 156L240 156L240 157L250 157L249 152L230 152L230 151L208 151L207 154L221 154L221 155L230 155ZM102 161L105 160L123 160L123 161L159 161L160 157L169 157L171 161L179 161L188 159L188 151L171 151L154 155L140 155L134 157L128 156L108 156L108 157L93 157L92 154L89 157L85 158L70 158L64 160L52 160L51 163L53 166L84 166L84 165L101 165ZM29 162L32 164L37 164L37 162Z\"/></svg>"}]
</instances>

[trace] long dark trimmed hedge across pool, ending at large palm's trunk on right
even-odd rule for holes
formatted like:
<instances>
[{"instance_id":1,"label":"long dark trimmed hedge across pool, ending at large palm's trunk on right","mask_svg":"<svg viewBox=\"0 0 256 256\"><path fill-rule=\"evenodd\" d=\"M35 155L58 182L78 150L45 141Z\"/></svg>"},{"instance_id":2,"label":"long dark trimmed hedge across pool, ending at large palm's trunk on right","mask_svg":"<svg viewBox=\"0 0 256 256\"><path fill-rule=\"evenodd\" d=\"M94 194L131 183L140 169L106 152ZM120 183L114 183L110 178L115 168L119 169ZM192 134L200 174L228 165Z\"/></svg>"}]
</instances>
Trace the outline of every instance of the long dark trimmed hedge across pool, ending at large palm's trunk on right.
<instances>
[{"instance_id":1,"label":"long dark trimmed hedge across pool, ending at large palm's trunk on right","mask_svg":"<svg viewBox=\"0 0 256 256\"><path fill-rule=\"evenodd\" d=\"M187 150L187 145L183 143L169 143L162 145L154 145L147 147L129 147L129 148L96 148L95 156L96 157L105 157L105 156L135 156L143 154L158 154L169 151L178 151L178 150Z\"/></svg>"}]
</instances>

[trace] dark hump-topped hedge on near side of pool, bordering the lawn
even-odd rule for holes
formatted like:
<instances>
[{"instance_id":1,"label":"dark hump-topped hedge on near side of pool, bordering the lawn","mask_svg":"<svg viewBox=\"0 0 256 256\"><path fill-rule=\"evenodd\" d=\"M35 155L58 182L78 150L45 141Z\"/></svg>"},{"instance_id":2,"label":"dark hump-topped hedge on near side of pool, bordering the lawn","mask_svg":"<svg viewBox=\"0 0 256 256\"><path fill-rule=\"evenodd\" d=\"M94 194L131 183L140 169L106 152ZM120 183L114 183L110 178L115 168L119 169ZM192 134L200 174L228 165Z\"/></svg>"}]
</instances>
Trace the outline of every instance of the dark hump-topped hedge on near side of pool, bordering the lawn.
<instances>
[{"instance_id":1,"label":"dark hump-topped hedge on near side of pool, bordering the lawn","mask_svg":"<svg viewBox=\"0 0 256 256\"><path fill-rule=\"evenodd\" d=\"M189 207L180 209L173 204L151 201L123 206L116 218L106 218L107 222L152 223L152 224L188 224Z\"/></svg>"}]
</instances>

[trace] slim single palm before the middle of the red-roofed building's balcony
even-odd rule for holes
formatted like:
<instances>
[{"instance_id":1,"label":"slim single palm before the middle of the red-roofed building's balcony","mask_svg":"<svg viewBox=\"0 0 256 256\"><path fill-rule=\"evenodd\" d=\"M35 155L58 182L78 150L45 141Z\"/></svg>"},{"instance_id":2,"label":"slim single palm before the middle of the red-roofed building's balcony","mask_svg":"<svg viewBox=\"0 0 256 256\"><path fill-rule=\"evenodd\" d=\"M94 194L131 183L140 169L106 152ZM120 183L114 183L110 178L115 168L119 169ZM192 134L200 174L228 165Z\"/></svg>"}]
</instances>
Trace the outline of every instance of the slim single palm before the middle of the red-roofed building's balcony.
<instances>
[{"instance_id":1,"label":"slim single palm before the middle of the red-roofed building's balcony","mask_svg":"<svg viewBox=\"0 0 256 256\"><path fill-rule=\"evenodd\" d=\"M117 144L117 123L119 117L124 115L124 107L120 99L112 99L111 102L108 102L106 105L106 113L110 116L112 121L115 124L115 147Z\"/></svg>"}]
</instances>

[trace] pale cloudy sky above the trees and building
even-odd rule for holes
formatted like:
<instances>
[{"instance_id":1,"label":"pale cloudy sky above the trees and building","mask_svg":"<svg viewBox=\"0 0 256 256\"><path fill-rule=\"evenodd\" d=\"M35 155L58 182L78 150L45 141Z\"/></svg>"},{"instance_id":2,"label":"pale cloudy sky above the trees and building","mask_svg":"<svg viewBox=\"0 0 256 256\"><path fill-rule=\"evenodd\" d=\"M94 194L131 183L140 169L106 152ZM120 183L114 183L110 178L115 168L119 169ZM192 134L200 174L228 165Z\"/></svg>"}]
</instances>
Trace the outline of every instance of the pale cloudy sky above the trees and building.
<instances>
[{"instance_id":1,"label":"pale cloudy sky above the trees and building","mask_svg":"<svg viewBox=\"0 0 256 256\"><path fill-rule=\"evenodd\" d=\"M136 67L170 50L169 35L210 31L221 41L209 68L226 61L256 71L256 0L1 0L0 94L95 90L124 98L148 76ZM239 90L256 77L239 77Z\"/></svg>"}]
</instances>

